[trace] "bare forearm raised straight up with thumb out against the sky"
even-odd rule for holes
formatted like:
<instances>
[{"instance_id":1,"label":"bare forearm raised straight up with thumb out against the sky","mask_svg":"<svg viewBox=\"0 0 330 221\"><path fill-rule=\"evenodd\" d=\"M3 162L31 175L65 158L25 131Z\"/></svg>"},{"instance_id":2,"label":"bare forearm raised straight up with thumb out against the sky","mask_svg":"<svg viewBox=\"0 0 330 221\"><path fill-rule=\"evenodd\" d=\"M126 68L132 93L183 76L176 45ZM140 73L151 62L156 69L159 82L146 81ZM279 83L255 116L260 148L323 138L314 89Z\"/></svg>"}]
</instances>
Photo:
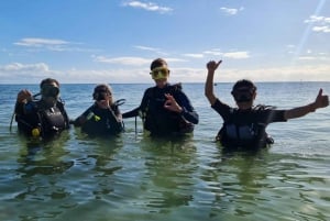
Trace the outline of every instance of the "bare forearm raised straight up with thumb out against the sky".
<instances>
[{"instance_id":1,"label":"bare forearm raised straight up with thumb out against the sky","mask_svg":"<svg viewBox=\"0 0 330 221\"><path fill-rule=\"evenodd\" d=\"M207 64L208 76L207 76L207 80L205 82L205 96L207 97L207 99L209 100L211 106L215 104L215 102L217 100L217 97L213 91L215 71L221 63L222 63L222 60L219 60L218 63L215 60L211 60Z\"/></svg>"}]
</instances>

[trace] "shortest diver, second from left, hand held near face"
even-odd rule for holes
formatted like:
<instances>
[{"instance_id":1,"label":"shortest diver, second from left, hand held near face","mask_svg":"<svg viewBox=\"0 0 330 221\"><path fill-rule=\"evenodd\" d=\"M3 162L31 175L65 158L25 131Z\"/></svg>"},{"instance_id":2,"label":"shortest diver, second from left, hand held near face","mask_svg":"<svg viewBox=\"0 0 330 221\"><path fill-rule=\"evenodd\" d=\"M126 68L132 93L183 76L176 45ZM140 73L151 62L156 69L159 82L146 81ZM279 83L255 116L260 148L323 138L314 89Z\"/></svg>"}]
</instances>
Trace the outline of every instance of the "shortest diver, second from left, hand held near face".
<instances>
[{"instance_id":1,"label":"shortest diver, second from left, hand held near face","mask_svg":"<svg viewBox=\"0 0 330 221\"><path fill-rule=\"evenodd\" d=\"M123 122L119 103L114 102L112 89L106 84L97 85L92 99L95 103L73 124L81 126L81 131L90 136L109 136L121 133Z\"/></svg>"}]
</instances>

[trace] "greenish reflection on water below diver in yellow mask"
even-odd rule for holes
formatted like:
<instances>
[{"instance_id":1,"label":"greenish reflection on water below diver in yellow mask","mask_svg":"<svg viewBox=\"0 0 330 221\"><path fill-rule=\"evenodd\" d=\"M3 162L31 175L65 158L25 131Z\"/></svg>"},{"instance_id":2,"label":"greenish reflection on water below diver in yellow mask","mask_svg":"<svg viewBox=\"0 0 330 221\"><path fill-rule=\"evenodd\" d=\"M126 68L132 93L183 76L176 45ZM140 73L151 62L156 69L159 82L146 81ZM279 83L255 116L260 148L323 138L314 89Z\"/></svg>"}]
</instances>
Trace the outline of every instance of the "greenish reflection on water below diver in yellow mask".
<instances>
[{"instance_id":1,"label":"greenish reflection on water below diver in yellow mask","mask_svg":"<svg viewBox=\"0 0 330 221\"><path fill-rule=\"evenodd\" d=\"M189 206L194 200L193 175L196 170L196 147L191 137L174 141L145 139L141 143L146 153L144 184L150 212L166 213L170 208Z\"/></svg>"}]
</instances>

